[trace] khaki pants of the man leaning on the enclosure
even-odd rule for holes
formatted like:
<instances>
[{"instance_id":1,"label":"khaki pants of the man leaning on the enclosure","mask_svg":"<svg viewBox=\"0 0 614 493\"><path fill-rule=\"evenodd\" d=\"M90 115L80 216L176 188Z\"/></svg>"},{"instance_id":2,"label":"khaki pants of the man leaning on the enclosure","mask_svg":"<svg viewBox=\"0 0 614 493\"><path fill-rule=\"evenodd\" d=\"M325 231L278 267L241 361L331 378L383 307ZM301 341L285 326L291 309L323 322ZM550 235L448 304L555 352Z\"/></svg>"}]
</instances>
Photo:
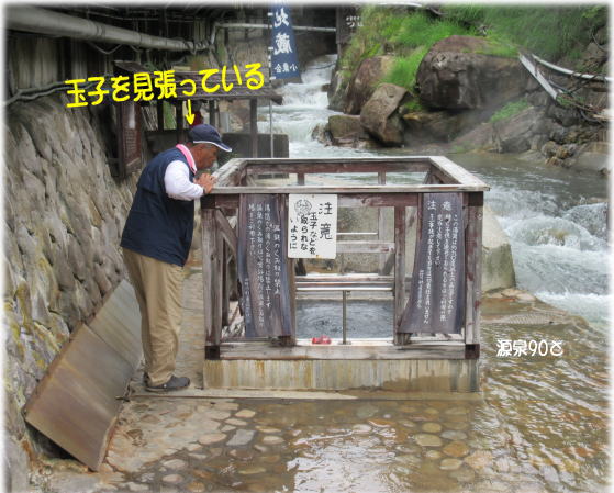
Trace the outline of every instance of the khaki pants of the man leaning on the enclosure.
<instances>
[{"instance_id":1,"label":"khaki pants of the man leaning on the enclosure","mask_svg":"<svg viewBox=\"0 0 614 493\"><path fill-rule=\"evenodd\" d=\"M124 264L141 309L141 338L150 385L175 371L181 326L182 268L123 248Z\"/></svg>"}]
</instances>

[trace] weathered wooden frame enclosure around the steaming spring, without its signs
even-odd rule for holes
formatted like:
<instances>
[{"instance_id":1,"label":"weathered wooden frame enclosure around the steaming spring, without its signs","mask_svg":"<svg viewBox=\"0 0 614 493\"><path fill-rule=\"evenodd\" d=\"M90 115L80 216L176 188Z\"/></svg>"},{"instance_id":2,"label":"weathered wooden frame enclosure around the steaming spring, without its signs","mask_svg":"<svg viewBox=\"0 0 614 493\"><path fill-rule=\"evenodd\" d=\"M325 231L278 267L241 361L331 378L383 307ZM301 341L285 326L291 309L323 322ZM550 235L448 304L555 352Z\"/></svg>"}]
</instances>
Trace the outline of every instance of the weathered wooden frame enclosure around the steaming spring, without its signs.
<instances>
[{"instance_id":1,"label":"weathered wooden frame enclosure around the steaming spring, without its signs","mask_svg":"<svg viewBox=\"0 0 614 493\"><path fill-rule=\"evenodd\" d=\"M389 172L425 173L422 184L387 184ZM254 186L258 175L295 175L295 186ZM309 173L373 173L378 184L305 186ZM480 296L483 192L490 188L477 177L443 156L402 156L332 159L233 159L215 176L217 186L201 200L202 259L204 281L205 359L477 359L480 349ZM424 193L462 194L465 228L465 321L460 334L408 334L394 330L391 340L359 339L359 344L314 346L289 340L223 340L230 322L230 293L236 277L230 268L237 255L237 235L232 225L242 194L335 193L339 208L393 208L394 242L382 240L382 210L378 240L338 242L338 253L393 253L393 276L357 274L294 277L290 262L292 317L297 291L353 290L391 291L394 296L394 326L399 327L406 303L405 238L418 221ZM406 208L415 208L408 214ZM290 259L293 260L293 259ZM381 265L381 262L380 262ZM344 295L345 298L345 295ZM344 337L345 339L345 337ZM345 340L344 340L345 343Z\"/></svg>"}]
</instances>

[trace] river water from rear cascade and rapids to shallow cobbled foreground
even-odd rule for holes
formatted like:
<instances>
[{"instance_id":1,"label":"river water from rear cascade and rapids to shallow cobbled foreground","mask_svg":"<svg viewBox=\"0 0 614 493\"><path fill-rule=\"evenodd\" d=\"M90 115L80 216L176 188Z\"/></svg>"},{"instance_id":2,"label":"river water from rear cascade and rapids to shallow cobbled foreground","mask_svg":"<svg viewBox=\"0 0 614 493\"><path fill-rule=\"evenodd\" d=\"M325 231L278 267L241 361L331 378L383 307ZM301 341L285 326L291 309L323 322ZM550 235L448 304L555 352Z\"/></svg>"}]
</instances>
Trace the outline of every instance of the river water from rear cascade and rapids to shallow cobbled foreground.
<instances>
[{"instance_id":1,"label":"river water from rear cascade and rapids to shallow cobbled foreground","mask_svg":"<svg viewBox=\"0 0 614 493\"><path fill-rule=\"evenodd\" d=\"M303 83L282 88L284 104L273 108L275 131L289 135L291 157L389 155L326 147L311 138L314 126L335 114L322 90L334 61L334 56L314 60ZM260 110L260 131L268 132L268 109ZM271 479L271 490L283 491L281 484L290 480L293 491L606 490L606 182L517 156L449 157L491 186L485 204L510 237L518 288L560 310L536 302L518 318L523 305L484 301L478 400L453 394L405 402L373 396L358 406L289 404L295 413L284 415L302 432L287 457L288 474ZM389 306L362 303L350 311L358 320L389 326ZM308 306L299 321L330 317L322 310ZM521 338L560 341L563 355L496 356L498 340Z\"/></svg>"}]
</instances>

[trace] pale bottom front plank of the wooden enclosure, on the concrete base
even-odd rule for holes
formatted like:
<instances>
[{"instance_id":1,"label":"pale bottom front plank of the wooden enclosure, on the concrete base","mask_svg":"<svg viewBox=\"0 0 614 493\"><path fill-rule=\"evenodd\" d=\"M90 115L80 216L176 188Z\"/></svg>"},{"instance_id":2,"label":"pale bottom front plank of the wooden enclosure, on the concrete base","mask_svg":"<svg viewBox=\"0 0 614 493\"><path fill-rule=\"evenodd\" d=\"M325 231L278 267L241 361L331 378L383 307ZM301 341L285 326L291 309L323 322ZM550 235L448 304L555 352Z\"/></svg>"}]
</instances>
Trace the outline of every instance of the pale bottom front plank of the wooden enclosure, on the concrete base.
<instances>
[{"instance_id":1,"label":"pale bottom front plank of the wooden enclosure, on the concrete base","mask_svg":"<svg viewBox=\"0 0 614 493\"><path fill-rule=\"evenodd\" d=\"M222 360L369 360L369 359L465 359L465 344L449 341L426 345L394 346L361 345L350 339L343 345L334 339L331 345L300 345L273 347L270 344L225 343L221 348Z\"/></svg>"}]
</instances>

